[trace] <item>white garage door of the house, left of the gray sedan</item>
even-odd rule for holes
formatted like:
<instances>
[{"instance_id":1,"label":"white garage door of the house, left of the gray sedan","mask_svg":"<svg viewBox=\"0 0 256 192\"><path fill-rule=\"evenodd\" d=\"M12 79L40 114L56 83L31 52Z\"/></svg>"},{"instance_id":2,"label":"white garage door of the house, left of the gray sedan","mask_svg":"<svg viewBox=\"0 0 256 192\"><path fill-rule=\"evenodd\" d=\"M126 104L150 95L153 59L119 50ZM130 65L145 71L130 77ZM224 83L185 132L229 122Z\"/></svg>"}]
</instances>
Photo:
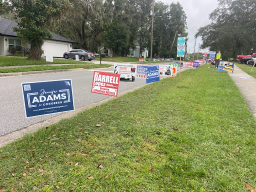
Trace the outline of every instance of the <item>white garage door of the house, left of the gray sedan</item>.
<instances>
[{"instance_id":1,"label":"white garage door of the house, left of the gray sedan","mask_svg":"<svg viewBox=\"0 0 256 192\"><path fill-rule=\"evenodd\" d=\"M63 53L68 51L68 44L55 43L44 41L44 45L42 45L42 50L45 54L51 54L54 57L63 57Z\"/></svg>"}]
</instances>

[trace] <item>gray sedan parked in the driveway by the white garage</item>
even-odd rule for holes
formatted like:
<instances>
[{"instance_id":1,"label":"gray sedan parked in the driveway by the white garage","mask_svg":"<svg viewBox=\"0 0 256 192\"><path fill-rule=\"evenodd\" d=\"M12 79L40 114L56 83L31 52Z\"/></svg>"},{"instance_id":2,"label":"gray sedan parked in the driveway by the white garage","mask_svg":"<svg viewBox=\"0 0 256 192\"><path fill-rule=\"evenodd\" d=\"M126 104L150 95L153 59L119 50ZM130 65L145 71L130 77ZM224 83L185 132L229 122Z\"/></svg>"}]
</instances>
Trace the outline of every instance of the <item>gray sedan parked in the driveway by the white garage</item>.
<instances>
[{"instance_id":1,"label":"gray sedan parked in the driveway by the white garage","mask_svg":"<svg viewBox=\"0 0 256 192\"><path fill-rule=\"evenodd\" d=\"M92 60L95 59L95 54L92 52L89 52L88 50L83 50L83 49L73 49L69 52L64 52L63 57L68 59L72 58L75 59L75 55L78 55L78 58L81 60Z\"/></svg>"}]
</instances>

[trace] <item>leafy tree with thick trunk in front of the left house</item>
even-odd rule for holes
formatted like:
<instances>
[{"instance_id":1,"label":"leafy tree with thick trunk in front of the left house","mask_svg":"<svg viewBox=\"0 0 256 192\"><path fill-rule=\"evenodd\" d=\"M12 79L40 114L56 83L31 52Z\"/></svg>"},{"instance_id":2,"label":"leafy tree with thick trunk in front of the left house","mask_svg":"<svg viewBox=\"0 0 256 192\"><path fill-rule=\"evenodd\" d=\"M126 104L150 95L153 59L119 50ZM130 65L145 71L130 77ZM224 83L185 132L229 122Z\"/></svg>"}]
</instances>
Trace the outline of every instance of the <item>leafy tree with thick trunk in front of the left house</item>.
<instances>
[{"instance_id":1,"label":"leafy tree with thick trunk in front of the left house","mask_svg":"<svg viewBox=\"0 0 256 192\"><path fill-rule=\"evenodd\" d=\"M41 58L44 40L52 37L49 26L53 18L60 17L70 5L68 0L5 0L4 4L17 19L14 31L30 43L30 59Z\"/></svg>"}]
</instances>

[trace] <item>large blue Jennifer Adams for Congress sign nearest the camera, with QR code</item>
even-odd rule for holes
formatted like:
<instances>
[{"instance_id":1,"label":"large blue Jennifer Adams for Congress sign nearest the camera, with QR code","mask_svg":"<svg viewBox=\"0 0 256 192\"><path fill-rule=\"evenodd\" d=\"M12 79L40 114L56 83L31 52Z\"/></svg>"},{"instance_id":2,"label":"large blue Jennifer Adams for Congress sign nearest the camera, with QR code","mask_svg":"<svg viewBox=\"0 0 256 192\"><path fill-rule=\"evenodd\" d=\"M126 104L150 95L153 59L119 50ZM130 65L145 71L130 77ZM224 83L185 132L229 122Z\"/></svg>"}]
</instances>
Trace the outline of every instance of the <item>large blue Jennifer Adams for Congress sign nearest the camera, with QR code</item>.
<instances>
[{"instance_id":1,"label":"large blue Jennifer Adams for Congress sign nearest the camera, with QR code","mask_svg":"<svg viewBox=\"0 0 256 192\"><path fill-rule=\"evenodd\" d=\"M74 110L71 79L21 83L26 118Z\"/></svg>"}]
</instances>

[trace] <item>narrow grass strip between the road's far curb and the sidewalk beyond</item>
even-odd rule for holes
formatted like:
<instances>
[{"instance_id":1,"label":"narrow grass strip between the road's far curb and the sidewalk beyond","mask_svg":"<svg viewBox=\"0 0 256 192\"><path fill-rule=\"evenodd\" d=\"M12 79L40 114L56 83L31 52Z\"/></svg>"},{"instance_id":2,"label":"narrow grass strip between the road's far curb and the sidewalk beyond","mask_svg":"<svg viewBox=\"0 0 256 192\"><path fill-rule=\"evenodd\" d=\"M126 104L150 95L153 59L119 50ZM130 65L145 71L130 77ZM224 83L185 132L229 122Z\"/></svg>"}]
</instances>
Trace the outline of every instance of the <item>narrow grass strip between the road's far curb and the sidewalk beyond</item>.
<instances>
[{"instance_id":1,"label":"narrow grass strip between the road's far curb and the sidewalk beyond","mask_svg":"<svg viewBox=\"0 0 256 192\"><path fill-rule=\"evenodd\" d=\"M110 67L111 64L68 64L68 65L41 65L41 66L24 66L14 68L0 68L0 73L8 72L26 72L39 70L56 70L56 69L70 69L70 68L104 68Z\"/></svg>"}]
</instances>

